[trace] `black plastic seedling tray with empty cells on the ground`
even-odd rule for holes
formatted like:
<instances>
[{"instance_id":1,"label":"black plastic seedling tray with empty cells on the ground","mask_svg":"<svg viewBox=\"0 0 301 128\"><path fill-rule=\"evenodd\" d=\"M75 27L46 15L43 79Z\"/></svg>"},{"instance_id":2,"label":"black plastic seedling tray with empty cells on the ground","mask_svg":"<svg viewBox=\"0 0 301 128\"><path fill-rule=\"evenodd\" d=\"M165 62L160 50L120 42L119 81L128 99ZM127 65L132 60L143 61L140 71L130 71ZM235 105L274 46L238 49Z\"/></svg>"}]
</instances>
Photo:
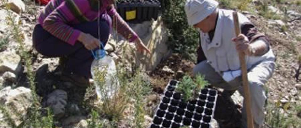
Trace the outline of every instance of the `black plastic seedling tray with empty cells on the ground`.
<instances>
[{"instance_id":1,"label":"black plastic seedling tray with empty cells on the ground","mask_svg":"<svg viewBox=\"0 0 301 128\"><path fill-rule=\"evenodd\" d=\"M175 92L178 81L171 80L165 88L150 128L210 128L217 100L217 90L204 88L198 98L184 102Z\"/></svg>"}]
</instances>

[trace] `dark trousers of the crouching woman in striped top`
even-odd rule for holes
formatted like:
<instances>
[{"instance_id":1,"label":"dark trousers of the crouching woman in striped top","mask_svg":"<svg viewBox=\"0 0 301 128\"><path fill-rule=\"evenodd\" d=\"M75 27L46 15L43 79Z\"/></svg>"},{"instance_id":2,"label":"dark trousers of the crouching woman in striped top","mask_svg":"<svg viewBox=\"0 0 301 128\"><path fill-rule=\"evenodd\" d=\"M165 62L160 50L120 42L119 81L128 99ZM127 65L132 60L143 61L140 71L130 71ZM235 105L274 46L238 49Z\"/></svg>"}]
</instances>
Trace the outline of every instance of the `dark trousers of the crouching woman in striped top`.
<instances>
[{"instance_id":1,"label":"dark trousers of the crouching woman in striped top","mask_svg":"<svg viewBox=\"0 0 301 128\"><path fill-rule=\"evenodd\" d=\"M110 34L110 21L101 19L100 26L100 40L106 44ZM98 38L98 22L85 22L78 25L73 25L73 28L84 33L91 34ZM67 57L64 71L67 73L74 73L91 77L91 63L94 60L90 50L77 41L73 46L64 42L47 31L45 31L40 24L37 24L33 31L33 46L42 55L47 57Z\"/></svg>"}]
</instances>

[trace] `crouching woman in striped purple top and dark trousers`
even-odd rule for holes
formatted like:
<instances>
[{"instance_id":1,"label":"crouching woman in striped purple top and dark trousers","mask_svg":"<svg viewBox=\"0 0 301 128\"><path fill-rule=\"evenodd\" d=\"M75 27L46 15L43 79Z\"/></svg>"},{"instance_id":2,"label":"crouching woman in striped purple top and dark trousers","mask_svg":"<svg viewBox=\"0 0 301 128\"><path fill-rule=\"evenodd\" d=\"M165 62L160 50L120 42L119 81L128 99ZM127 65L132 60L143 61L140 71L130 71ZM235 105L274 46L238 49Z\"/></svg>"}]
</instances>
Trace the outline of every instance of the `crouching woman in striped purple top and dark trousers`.
<instances>
[{"instance_id":1,"label":"crouching woman in striped purple top and dark trousers","mask_svg":"<svg viewBox=\"0 0 301 128\"><path fill-rule=\"evenodd\" d=\"M63 80L88 85L94 59L91 50L99 48L100 41L106 44L111 28L134 42L139 52L150 52L113 3L114 0L51 0L41 12L33 32L33 46L42 55L66 58Z\"/></svg>"}]
</instances>

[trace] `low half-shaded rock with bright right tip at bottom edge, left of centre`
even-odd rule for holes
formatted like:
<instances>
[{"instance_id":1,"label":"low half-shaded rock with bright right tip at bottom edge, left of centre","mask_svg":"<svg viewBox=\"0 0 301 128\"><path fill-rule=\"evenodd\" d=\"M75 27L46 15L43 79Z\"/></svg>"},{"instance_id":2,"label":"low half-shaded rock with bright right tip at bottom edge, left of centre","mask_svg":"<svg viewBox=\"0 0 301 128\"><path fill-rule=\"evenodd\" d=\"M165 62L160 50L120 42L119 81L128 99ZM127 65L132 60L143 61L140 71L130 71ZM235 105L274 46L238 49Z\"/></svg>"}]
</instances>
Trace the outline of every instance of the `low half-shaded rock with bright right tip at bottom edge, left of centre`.
<instances>
[{"instance_id":1,"label":"low half-shaded rock with bright right tip at bottom edge, left of centre","mask_svg":"<svg viewBox=\"0 0 301 128\"><path fill-rule=\"evenodd\" d=\"M69 126L69 125L78 125L80 122L81 125L85 125L85 127L87 127L88 123L87 121L85 121L86 117L85 116L70 116L66 119L64 119L62 122L63 122L63 126ZM70 126L69 126L70 127Z\"/></svg>"}]
</instances>

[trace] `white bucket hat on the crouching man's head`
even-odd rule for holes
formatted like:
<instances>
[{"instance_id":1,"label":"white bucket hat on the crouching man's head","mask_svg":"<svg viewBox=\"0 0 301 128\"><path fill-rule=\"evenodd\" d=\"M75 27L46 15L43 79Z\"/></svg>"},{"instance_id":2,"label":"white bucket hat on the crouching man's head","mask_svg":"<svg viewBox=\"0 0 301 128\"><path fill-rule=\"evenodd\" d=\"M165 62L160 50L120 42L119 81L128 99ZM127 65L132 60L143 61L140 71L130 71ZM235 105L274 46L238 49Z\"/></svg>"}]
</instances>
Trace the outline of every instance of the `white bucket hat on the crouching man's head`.
<instances>
[{"instance_id":1,"label":"white bucket hat on the crouching man's head","mask_svg":"<svg viewBox=\"0 0 301 128\"><path fill-rule=\"evenodd\" d=\"M188 25L194 25L209 16L219 5L215 0L187 0L185 13Z\"/></svg>"}]
</instances>

